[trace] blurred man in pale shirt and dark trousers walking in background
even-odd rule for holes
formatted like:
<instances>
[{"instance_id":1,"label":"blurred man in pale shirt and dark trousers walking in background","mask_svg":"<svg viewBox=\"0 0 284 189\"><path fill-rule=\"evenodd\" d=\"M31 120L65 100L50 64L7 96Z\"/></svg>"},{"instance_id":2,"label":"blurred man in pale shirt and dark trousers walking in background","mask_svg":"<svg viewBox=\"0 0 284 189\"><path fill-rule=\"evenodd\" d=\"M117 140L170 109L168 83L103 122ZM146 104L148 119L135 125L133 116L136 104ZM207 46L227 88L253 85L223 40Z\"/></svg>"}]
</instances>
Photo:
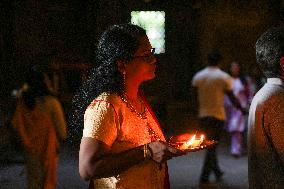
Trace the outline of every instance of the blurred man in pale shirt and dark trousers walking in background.
<instances>
[{"instance_id":1,"label":"blurred man in pale shirt and dark trousers walking in background","mask_svg":"<svg viewBox=\"0 0 284 189\"><path fill-rule=\"evenodd\" d=\"M191 83L196 102L198 102L199 129L206 134L208 139L215 141L219 141L224 128L225 94L230 98L234 106L245 113L245 110L233 94L232 77L219 68L221 60L222 55L217 51L208 54L208 66L197 72ZM214 145L206 151L200 176L201 185L212 184L209 181L211 172L215 174L217 181L222 179L224 173L219 167L216 149L217 145Z\"/></svg>"}]
</instances>

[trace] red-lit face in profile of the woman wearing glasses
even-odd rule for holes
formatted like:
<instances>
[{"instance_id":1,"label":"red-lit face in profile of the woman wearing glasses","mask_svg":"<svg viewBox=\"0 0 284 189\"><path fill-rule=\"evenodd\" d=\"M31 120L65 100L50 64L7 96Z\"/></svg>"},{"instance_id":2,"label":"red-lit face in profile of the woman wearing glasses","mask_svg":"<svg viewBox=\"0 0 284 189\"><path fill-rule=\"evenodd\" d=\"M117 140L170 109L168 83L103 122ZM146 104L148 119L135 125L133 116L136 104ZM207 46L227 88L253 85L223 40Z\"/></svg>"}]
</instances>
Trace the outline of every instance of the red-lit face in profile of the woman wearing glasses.
<instances>
[{"instance_id":1,"label":"red-lit face in profile of the woman wearing glasses","mask_svg":"<svg viewBox=\"0 0 284 189\"><path fill-rule=\"evenodd\" d=\"M125 64L126 79L142 83L155 78L156 62L148 37L141 38L132 60Z\"/></svg>"}]
</instances>

